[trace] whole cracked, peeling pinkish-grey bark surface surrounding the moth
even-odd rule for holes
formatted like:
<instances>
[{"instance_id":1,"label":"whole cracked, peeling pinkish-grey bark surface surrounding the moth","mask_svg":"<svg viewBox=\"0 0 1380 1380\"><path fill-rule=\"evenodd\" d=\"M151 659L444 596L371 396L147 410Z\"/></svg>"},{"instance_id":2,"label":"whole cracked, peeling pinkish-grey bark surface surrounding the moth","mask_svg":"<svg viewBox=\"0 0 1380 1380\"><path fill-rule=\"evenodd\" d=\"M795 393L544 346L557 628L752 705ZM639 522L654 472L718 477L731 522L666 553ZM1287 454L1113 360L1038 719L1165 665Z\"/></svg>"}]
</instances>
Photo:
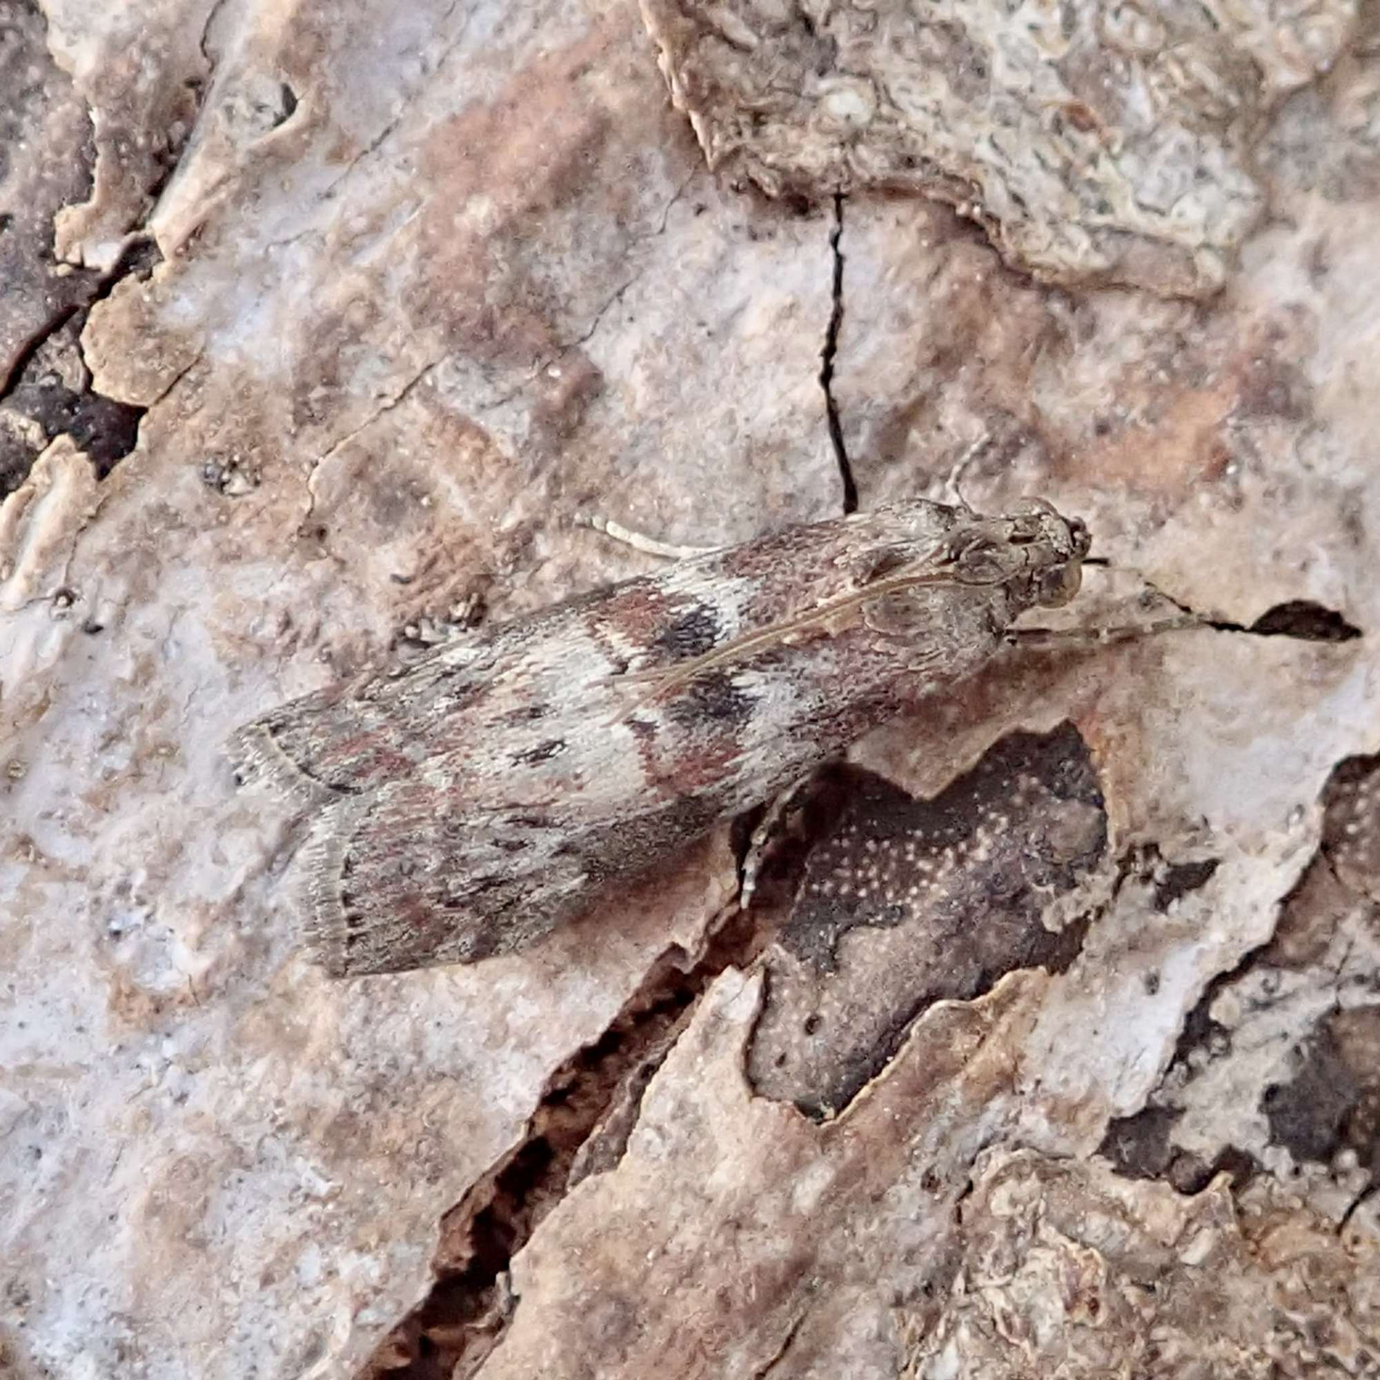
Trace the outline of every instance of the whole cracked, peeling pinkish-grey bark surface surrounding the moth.
<instances>
[{"instance_id":1,"label":"whole cracked, peeling pinkish-grey bark surface surrounding the moth","mask_svg":"<svg viewBox=\"0 0 1380 1380\"><path fill-rule=\"evenodd\" d=\"M0 0L0 1370L1376 1373L1374 10L912 11ZM304 962L237 724L955 484L1212 627Z\"/></svg>"}]
</instances>

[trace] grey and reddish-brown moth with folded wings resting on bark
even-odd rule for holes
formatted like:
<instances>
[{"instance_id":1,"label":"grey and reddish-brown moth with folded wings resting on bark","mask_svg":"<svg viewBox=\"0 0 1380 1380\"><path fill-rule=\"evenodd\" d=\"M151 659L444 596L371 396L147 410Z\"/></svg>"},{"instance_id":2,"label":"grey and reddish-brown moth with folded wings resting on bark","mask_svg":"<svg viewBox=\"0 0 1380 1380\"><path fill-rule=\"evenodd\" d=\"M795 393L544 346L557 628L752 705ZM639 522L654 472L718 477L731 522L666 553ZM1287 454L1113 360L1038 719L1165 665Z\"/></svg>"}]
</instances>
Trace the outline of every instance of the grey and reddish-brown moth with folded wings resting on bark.
<instances>
[{"instance_id":1,"label":"grey and reddish-brown moth with folded wings resting on bark","mask_svg":"<svg viewBox=\"0 0 1380 1380\"><path fill-rule=\"evenodd\" d=\"M951 691L1078 591L1087 529L920 500L784 527L344 680L240 729L309 805L335 974L530 944Z\"/></svg>"}]
</instances>

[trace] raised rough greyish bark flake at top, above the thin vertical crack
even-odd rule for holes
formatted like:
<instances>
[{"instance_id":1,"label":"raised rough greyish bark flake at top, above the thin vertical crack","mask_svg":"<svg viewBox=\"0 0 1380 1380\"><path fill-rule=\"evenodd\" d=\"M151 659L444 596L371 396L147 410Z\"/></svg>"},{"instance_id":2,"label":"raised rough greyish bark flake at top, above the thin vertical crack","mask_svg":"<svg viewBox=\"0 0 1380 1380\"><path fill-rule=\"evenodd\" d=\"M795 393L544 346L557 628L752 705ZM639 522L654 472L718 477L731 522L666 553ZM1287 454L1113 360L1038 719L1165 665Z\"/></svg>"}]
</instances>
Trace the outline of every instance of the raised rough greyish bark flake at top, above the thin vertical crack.
<instances>
[{"instance_id":1,"label":"raised rough greyish bark flake at top, above the thin vertical crack","mask_svg":"<svg viewBox=\"0 0 1380 1380\"><path fill-rule=\"evenodd\" d=\"M1264 213L1253 152L1336 61L1351 0L642 0L711 167L773 195L922 192L1057 283L1219 288Z\"/></svg>"}]
</instances>

